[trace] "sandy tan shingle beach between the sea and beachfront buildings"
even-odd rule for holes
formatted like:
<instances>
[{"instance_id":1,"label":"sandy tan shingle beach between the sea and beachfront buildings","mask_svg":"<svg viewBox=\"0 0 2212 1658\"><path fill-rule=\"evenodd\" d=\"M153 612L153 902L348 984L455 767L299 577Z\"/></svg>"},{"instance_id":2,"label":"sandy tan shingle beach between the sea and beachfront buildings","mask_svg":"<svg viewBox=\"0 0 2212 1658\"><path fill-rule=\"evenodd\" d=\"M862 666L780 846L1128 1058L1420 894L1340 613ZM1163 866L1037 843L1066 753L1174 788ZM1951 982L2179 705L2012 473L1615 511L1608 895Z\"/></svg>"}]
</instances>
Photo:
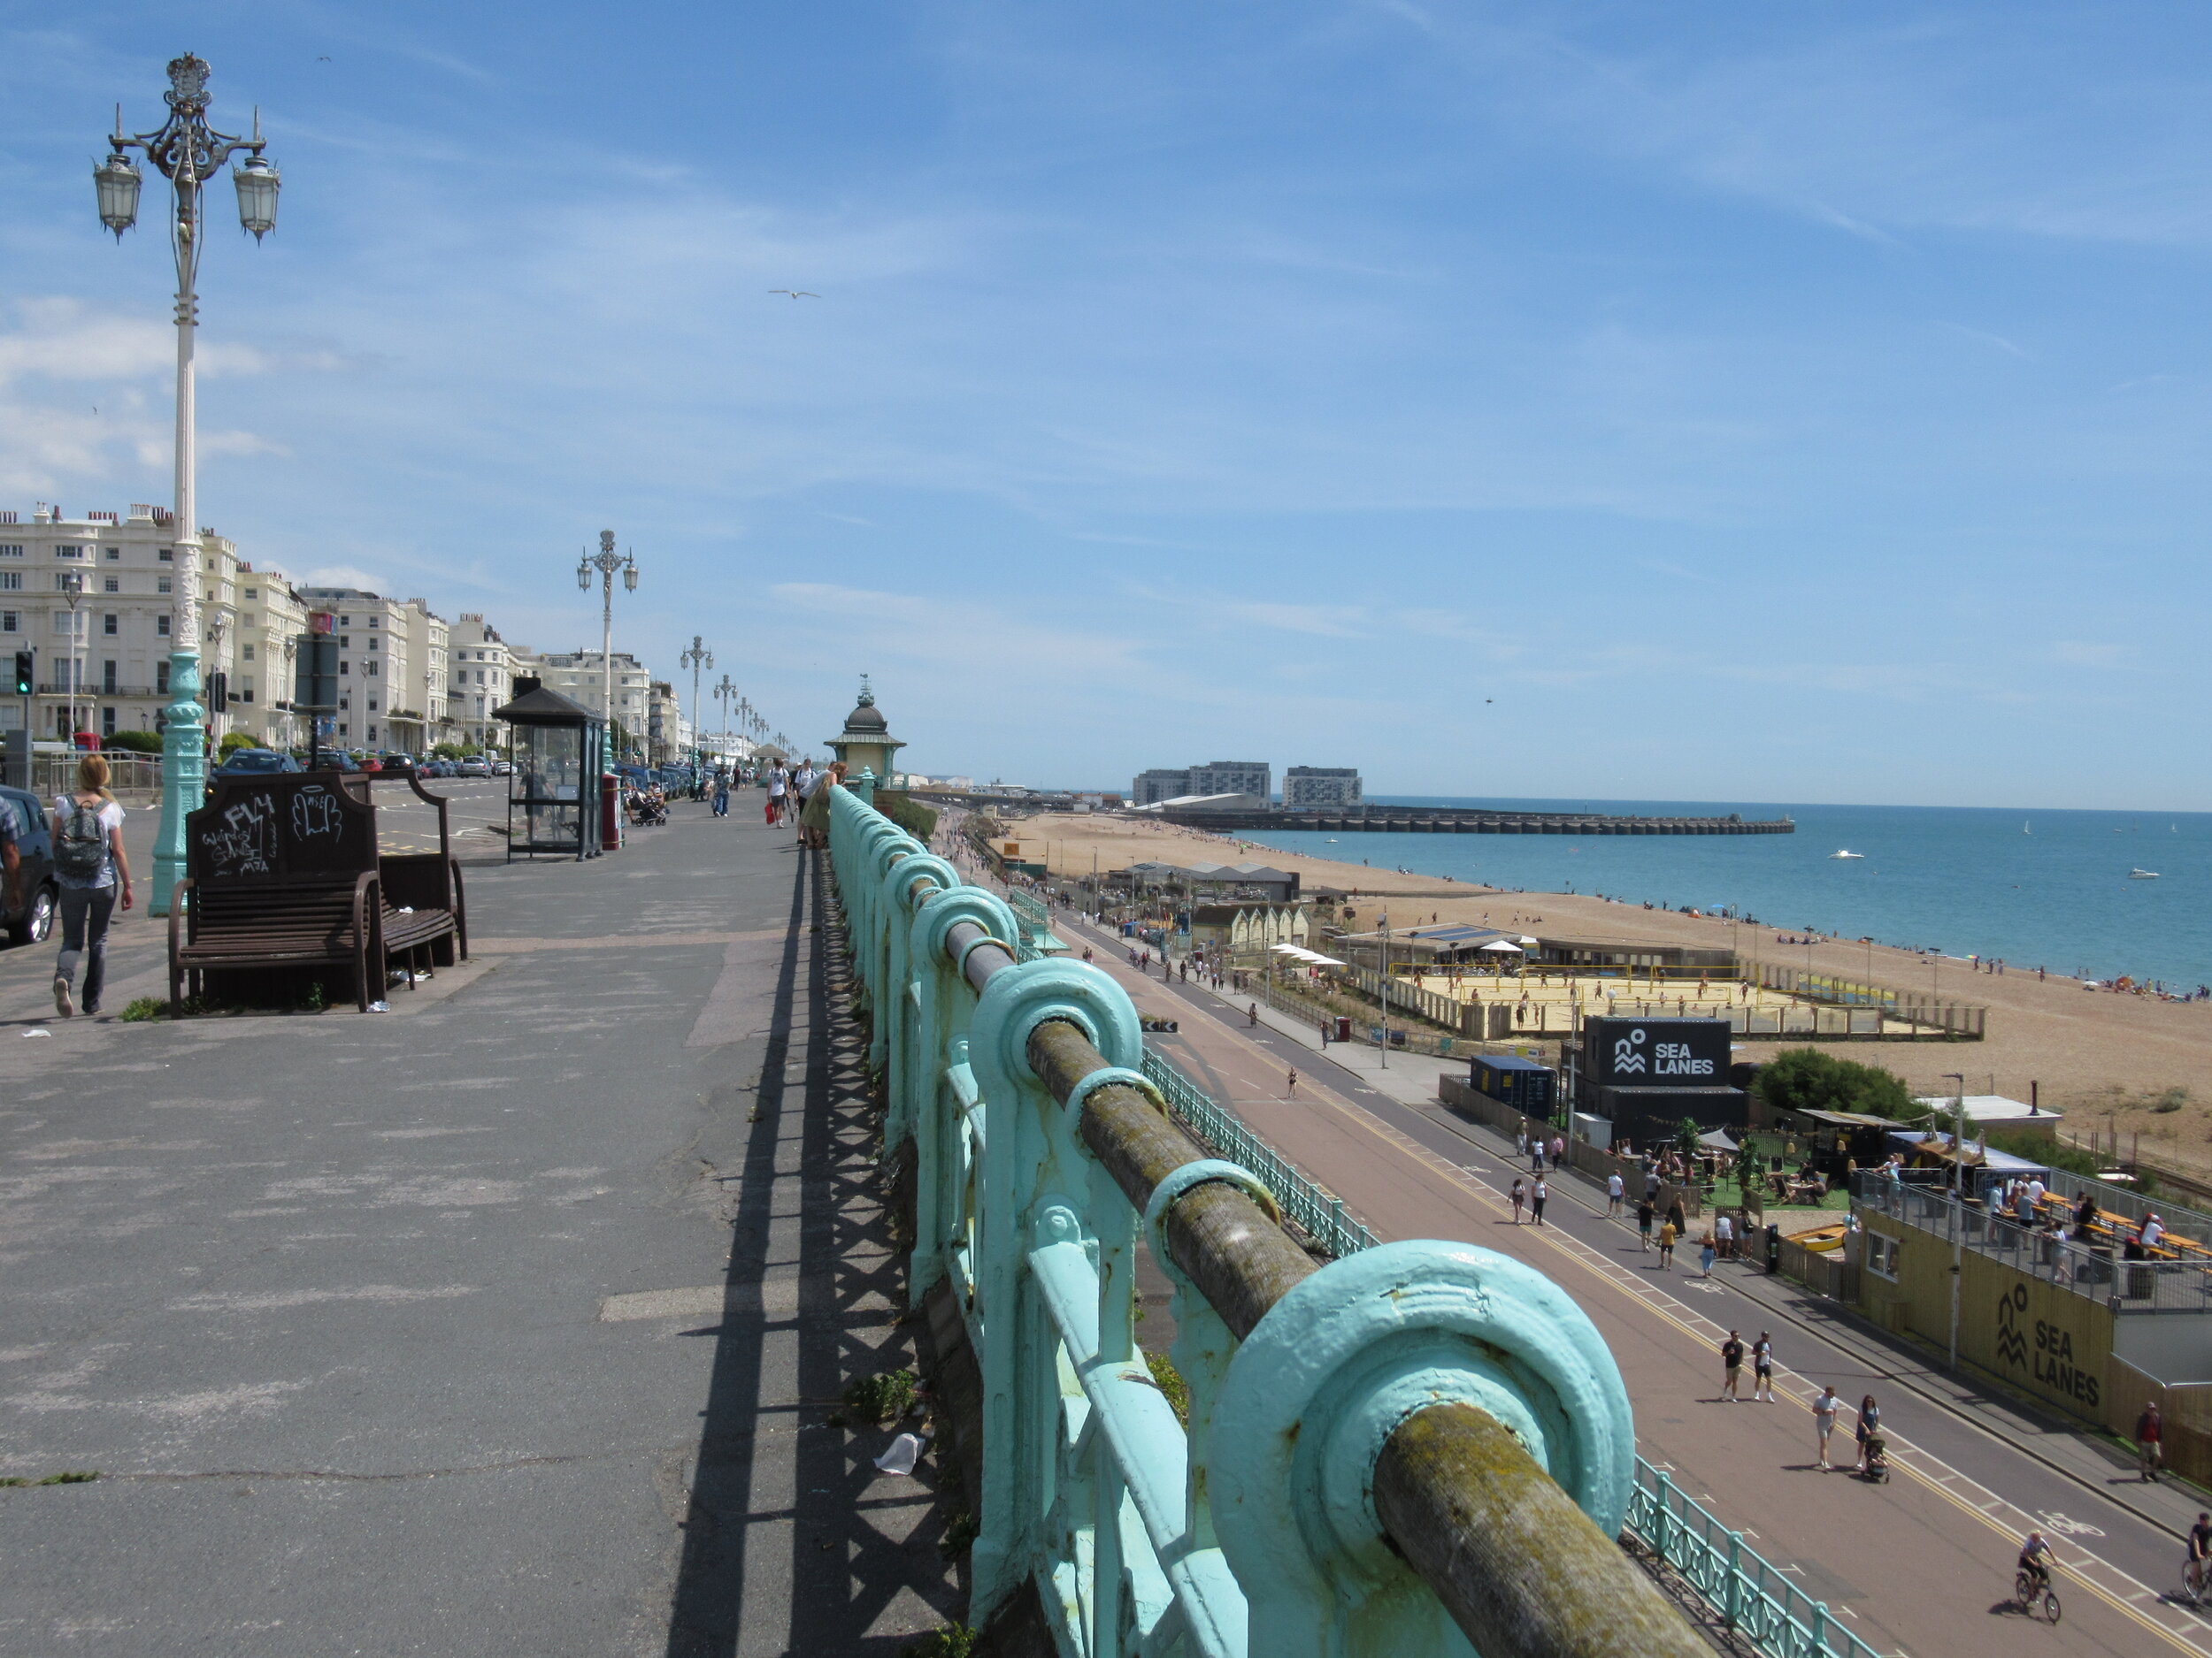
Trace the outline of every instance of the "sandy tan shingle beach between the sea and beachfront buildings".
<instances>
[{"instance_id":1,"label":"sandy tan shingle beach between the sea and beachfront buildings","mask_svg":"<svg viewBox=\"0 0 2212 1658\"><path fill-rule=\"evenodd\" d=\"M1880 944L1869 955L1856 940L1816 942L1807 951L1776 944L1774 928L1732 928L1717 917L1586 895L1460 886L1436 875L1369 869L1356 856L1349 862L1310 858L1141 818L1055 814L1020 822L1013 833L1024 844L1042 842L1055 875L1126 869L1146 858L1177 864L1252 860L1296 869L1305 886L1398 895L1389 906L1398 926L1433 917L1590 940L1734 944L1752 959L1807 966L1809 955L1816 970L1907 990L1927 990L1933 982L1947 999L1989 1008L1984 1041L1854 1041L1832 1043L1834 1050L1893 1070L1918 1094L1951 1092L1958 1083L1944 1072L1953 1070L1966 1074L1969 1094L2026 1099L2033 1081L2046 1108L2066 1112L2066 1130L2141 1134L2146 1156L2212 1172L2212 1004L2093 993L2075 979L2037 982L2033 973L1982 973L1955 957L1933 957L1931 968L1931 957ZM1354 840L1345 844L1356 853ZM1747 1041L1743 1057L1767 1059L1785 1046L1801 1043ZM2185 1090L2179 1105L2172 1090Z\"/></svg>"}]
</instances>

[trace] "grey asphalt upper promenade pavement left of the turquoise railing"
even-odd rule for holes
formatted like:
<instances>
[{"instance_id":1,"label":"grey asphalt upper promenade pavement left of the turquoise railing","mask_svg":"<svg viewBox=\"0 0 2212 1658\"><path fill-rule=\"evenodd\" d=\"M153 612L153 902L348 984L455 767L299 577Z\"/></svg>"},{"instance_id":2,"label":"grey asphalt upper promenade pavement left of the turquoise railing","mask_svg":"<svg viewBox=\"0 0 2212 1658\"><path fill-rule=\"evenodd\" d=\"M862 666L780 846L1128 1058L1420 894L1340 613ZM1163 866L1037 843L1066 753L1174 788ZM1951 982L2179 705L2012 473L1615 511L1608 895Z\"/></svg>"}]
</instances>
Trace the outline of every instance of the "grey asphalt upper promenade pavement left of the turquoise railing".
<instances>
[{"instance_id":1,"label":"grey asphalt upper promenade pavement left of the turquoise railing","mask_svg":"<svg viewBox=\"0 0 2212 1658\"><path fill-rule=\"evenodd\" d=\"M489 805L484 818L493 814ZM131 844L150 814L133 814ZM467 871L392 1012L60 1021L0 953L0 1651L891 1654L958 1605L816 860Z\"/></svg>"}]
</instances>

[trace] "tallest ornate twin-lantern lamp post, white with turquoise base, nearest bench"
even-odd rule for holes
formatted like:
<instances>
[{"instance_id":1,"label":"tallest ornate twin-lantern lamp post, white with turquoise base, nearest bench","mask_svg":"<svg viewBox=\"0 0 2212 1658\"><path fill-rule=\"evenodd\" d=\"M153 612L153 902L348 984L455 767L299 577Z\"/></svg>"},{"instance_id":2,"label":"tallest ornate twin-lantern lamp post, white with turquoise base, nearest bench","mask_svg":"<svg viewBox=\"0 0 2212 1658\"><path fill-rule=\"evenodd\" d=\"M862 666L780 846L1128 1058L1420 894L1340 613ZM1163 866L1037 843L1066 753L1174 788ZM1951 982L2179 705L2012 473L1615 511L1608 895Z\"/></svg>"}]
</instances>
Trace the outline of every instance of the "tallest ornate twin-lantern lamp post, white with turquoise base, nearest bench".
<instances>
[{"instance_id":1,"label":"tallest ornate twin-lantern lamp post, white with turquoise base, nearest bench","mask_svg":"<svg viewBox=\"0 0 2212 1658\"><path fill-rule=\"evenodd\" d=\"M199 500L195 493L192 455L192 336L199 329L199 243L204 234L201 190L221 172L223 161L246 153L230 181L239 192L239 223L259 243L276 228L276 168L261 155L261 113L254 113L250 139L230 137L208 126L208 64L186 53L168 64L168 122L157 133L124 135L122 106L115 111L115 135L108 159L93 168L100 195L100 223L115 241L137 223L139 170L128 150L144 150L155 172L177 190L177 210L168 221L168 239L177 254L177 579L170 608L168 694L161 725L161 829L153 847L153 902L148 911L168 913L168 898L184 878L184 814L192 811L208 787L206 741L199 714ZM75 732L71 732L75 741Z\"/></svg>"}]
</instances>

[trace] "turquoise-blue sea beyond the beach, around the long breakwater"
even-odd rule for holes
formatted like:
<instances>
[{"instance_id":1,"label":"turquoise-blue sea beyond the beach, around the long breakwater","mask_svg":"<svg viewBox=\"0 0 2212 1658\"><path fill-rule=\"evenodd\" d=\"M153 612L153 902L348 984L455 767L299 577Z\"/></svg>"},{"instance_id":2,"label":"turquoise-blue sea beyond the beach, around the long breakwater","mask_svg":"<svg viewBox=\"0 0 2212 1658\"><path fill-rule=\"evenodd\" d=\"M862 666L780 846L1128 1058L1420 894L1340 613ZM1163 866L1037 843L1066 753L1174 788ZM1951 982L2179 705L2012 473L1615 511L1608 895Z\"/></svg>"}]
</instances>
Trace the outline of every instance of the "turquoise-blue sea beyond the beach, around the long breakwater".
<instances>
[{"instance_id":1,"label":"turquoise-blue sea beyond the beach, around the long breakwater","mask_svg":"<svg viewBox=\"0 0 2212 1658\"><path fill-rule=\"evenodd\" d=\"M1376 805L1792 818L1792 836L1248 831L1376 869L1531 893L1730 911L1783 935L1874 937L2011 970L2212 984L2212 814L1807 807L1750 800L1369 796ZM1860 853L1836 858L1838 851ZM2154 880L2135 878L2146 871Z\"/></svg>"}]
</instances>

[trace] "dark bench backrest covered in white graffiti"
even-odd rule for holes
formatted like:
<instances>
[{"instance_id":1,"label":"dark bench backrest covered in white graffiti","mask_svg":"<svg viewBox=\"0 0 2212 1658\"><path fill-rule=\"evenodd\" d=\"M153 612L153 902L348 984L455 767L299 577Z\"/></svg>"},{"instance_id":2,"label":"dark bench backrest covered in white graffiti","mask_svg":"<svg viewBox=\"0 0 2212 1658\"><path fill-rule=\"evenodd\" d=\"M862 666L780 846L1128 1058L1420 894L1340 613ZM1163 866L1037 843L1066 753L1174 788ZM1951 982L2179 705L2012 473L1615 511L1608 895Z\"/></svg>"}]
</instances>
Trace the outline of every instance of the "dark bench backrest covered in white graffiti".
<instances>
[{"instance_id":1,"label":"dark bench backrest covered in white graffiti","mask_svg":"<svg viewBox=\"0 0 2212 1658\"><path fill-rule=\"evenodd\" d=\"M341 880L352 893L376 869L376 807L319 772L217 778L186 814L184 858L201 893Z\"/></svg>"}]
</instances>

